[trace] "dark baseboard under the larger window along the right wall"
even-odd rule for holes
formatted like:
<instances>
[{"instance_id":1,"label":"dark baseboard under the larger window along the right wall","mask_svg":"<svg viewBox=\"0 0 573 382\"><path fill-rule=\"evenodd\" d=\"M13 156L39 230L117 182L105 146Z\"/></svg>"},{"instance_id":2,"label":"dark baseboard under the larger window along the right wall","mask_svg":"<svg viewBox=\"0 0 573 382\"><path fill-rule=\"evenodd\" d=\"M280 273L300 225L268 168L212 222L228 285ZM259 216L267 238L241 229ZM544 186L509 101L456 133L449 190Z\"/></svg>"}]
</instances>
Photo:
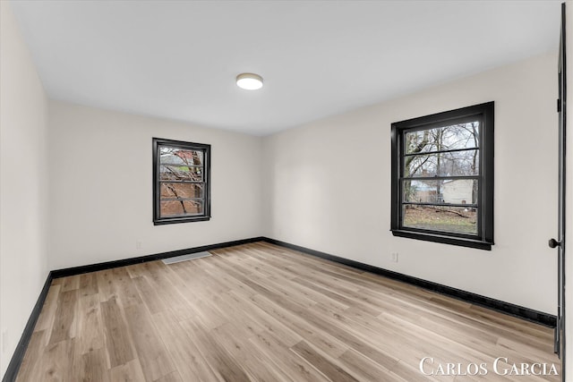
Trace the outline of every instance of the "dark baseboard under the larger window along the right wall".
<instances>
[{"instance_id":1,"label":"dark baseboard under the larger window along the right wall","mask_svg":"<svg viewBox=\"0 0 573 382\"><path fill-rule=\"evenodd\" d=\"M309 255L317 256L322 259L328 259L340 264L345 264L346 266L349 267L355 267L357 269L371 272L376 275L381 275L392 278L394 280L399 280L407 284L413 284L415 286L419 286L423 289L427 289L432 292L444 294L449 297L456 298L458 300L467 301L475 305L480 305L485 308L489 308L491 310L497 310L501 313L509 314L510 316L514 316L517 318L523 318L546 327L555 327L557 325L557 318L555 316L548 313L543 313L542 311L532 310L505 301L495 300L490 297L482 296L480 294L462 291L460 289L452 288L451 286L433 283L431 281L423 280L421 278L413 276L407 276L388 269L383 269L381 267L374 267L368 264L363 264L355 260L340 258L338 256L330 255L329 253L321 252L319 250L311 250L309 248L304 248L288 242L281 242L266 237L264 238L264 241L291 250L298 250L304 253L308 253Z\"/></svg>"}]
</instances>

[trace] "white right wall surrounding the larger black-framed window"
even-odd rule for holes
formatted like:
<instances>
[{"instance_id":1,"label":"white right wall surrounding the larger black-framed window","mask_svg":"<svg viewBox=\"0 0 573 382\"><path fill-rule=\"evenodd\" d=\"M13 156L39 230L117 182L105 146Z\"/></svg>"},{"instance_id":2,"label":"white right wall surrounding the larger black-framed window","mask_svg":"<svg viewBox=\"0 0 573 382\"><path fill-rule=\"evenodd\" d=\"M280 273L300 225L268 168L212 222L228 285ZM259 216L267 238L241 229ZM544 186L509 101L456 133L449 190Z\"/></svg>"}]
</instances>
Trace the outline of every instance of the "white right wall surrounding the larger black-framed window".
<instances>
[{"instance_id":1,"label":"white right wall surrounding the larger black-framed window","mask_svg":"<svg viewBox=\"0 0 573 382\"><path fill-rule=\"evenodd\" d=\"M556 67L556 55L538 56L266 137L264 234L556 314L547 246L557 225ZM390 123L487 101L495 101L492 251L392 236Z\"/></svg>"}]
</instances>

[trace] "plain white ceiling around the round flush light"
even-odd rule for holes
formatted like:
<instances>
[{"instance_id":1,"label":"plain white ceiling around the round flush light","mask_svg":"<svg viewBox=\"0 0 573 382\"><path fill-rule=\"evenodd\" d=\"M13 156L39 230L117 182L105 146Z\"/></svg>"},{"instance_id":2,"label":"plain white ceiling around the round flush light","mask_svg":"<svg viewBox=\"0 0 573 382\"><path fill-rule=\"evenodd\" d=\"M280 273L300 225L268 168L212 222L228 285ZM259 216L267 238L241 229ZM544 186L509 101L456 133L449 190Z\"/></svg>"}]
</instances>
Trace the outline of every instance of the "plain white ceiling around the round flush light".
<instances>
[{"instance_id":1,"label":"plain white ceiling around the round flush light","mask_svg":"<svg viewBox=\"0 0 573 382\"><path fill-rule=\"evenodd\" d=\"M260 135L556 51L560 29L552 0L12 8L49 97ZM237 88L241 72L265 86Z\"/></svg>"}]
</instances>

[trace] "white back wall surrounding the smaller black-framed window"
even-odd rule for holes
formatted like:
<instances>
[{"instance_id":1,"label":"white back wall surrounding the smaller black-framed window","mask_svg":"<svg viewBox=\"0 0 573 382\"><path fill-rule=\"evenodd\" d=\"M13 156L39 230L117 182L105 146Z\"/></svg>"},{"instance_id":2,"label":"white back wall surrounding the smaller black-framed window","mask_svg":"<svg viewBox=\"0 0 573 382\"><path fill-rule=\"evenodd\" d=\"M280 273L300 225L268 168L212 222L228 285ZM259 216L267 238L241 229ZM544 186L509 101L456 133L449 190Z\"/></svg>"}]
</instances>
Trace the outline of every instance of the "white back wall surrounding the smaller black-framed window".
<instances>
[{"instance_id":1,"label":"white back wall surrounding the smaller black-framed window","mask_svg":"<svg viewBox=\"0 0 573 382\"><path fill-rule=\"evenodd\" d=\"M55 101L49 127L50 269L261 234L260 137ZM153 137L211 145L210 221L153 225Z\"/></svg>"}]
</instances>

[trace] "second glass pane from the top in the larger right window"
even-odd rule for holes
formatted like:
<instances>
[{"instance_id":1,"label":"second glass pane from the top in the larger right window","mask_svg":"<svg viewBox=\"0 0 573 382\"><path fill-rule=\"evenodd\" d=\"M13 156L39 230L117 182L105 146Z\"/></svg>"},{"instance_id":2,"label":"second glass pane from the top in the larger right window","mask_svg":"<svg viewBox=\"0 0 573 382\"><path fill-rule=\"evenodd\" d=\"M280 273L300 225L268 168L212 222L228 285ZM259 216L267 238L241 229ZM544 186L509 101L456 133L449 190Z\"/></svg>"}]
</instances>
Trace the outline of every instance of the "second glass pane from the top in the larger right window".
<instances>
[{"instance_id":1,"label":"second glass pane from the top in the larger right window","mask_svg":"<svg viewBox=\"0 0 573 382\"><path fill-rule=\"evenodd\" d=\"M404 176L477 175L479 163L477 149L404 157Z\"/></svg>"}]
</instances>

